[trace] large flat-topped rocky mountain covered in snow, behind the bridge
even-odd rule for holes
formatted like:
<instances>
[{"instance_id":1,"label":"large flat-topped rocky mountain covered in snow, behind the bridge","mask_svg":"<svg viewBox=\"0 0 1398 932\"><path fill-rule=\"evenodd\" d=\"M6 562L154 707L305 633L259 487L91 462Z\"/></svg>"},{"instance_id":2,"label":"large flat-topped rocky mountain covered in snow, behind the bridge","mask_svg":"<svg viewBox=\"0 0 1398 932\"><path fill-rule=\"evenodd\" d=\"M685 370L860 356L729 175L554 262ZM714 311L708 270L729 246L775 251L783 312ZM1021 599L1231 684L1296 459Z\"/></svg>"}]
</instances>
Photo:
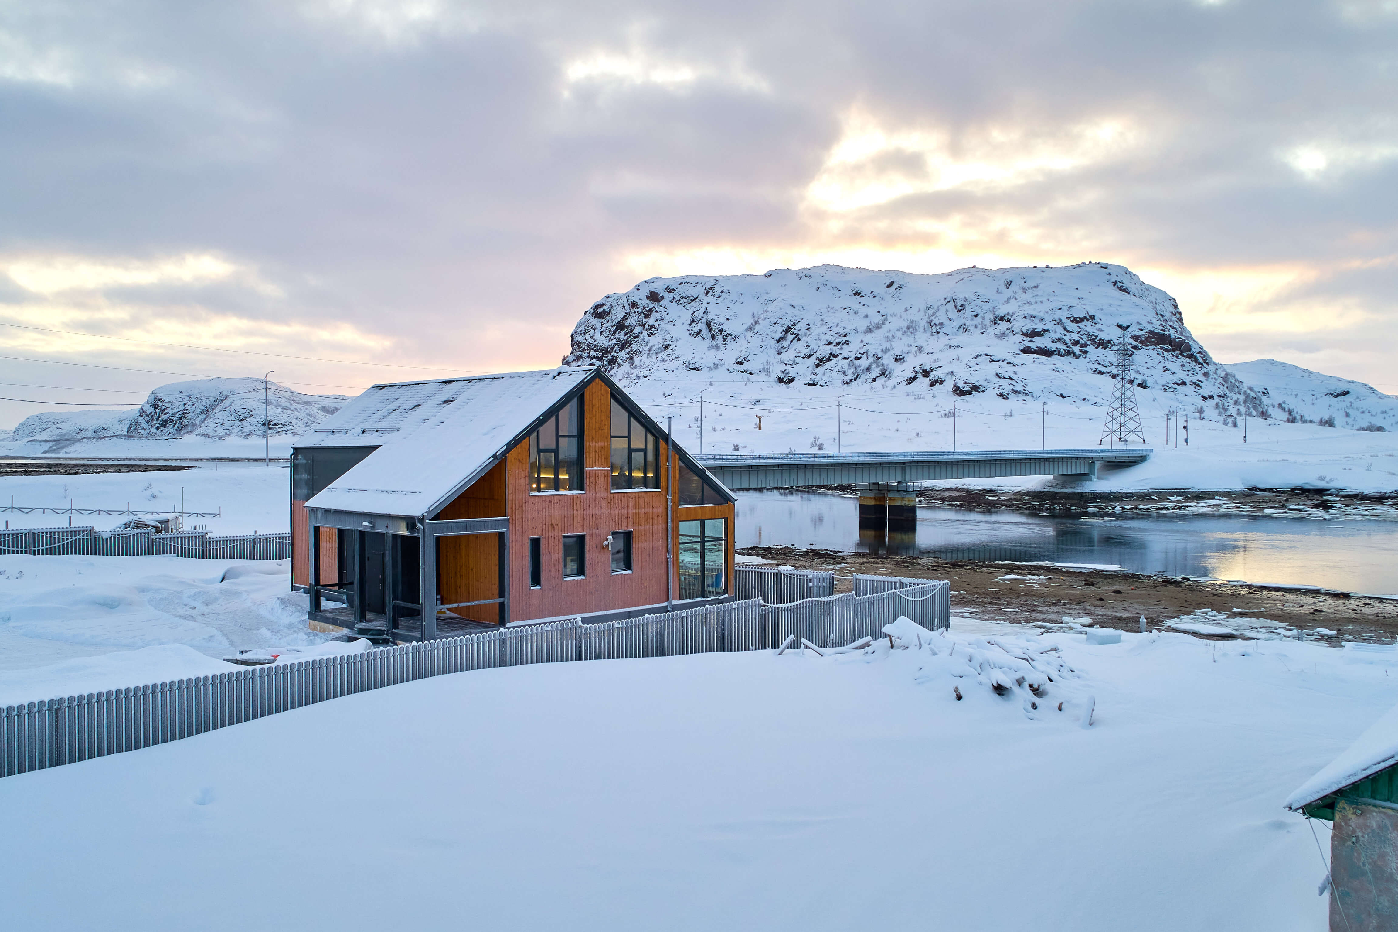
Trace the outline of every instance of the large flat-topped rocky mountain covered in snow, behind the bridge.
<instances>
[{"instance_id":1,"label":"large flat-topped rocky mountain covered in snow, behind the bridge","mask_svg":"<svg viewBox=\"0 0 1398 932\"><path fill-rule=\"evenodd\" d=\"M1170 295L1107 263L650 278L594 303L573 328L565 362L600 363L632 388L671 386L675 398L703 384L742 383L744 395L768 400L850 390L948 407L1099 407L1111 397L1113 345L1123 333L1135 347L1142 414L1151 402L1219 421L1244 409L1285 421L1299 404L1267 384L1250 387L1251 369L1244 376L1215 362ZM1345 386L1357 394L1359 383ZM1317 401L1306 416L1318 421L1324 408L1343 418L1345 395L1314 394L1331 407Z\"/></svg>"}]
</instances>

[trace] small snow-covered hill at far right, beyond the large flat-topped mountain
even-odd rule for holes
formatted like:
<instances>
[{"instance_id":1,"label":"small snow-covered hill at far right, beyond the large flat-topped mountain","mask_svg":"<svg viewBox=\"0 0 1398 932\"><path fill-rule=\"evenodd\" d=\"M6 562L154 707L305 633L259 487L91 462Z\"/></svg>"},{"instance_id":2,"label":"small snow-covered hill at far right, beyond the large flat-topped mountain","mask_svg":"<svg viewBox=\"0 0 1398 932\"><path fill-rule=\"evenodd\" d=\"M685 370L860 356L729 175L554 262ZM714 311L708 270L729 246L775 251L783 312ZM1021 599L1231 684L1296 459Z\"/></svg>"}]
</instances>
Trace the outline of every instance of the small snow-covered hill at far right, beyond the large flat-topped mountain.
<instances>
[{"instance_id":1,"label":"small snow-covered hill at far right, beyond the large flat-topped mountain","mask_svg":"<svg viewBox=\"0 0 1398 932\"><path fill-rule=\"evenodd\" d=\"M1327 376L1275 359L1229 363L1227 370L1257 390L1275 416L1355 430L1398 430L1398 398L1363 381ZM1328 422L1327 422L1328 423Z\"/></svg>"}]
</instances>

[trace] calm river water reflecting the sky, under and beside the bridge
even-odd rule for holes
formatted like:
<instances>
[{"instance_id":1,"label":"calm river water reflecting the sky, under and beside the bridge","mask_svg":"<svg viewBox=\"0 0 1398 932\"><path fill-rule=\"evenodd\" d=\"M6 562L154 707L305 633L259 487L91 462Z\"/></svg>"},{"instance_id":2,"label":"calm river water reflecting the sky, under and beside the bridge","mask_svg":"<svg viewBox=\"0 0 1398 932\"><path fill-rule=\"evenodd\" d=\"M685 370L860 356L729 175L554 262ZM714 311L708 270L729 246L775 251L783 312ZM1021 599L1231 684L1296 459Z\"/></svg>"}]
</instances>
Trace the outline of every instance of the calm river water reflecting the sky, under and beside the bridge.
<instances>
[{"instance_id":1,"label":"calm river water reflecting the sky, under and beside the bridge","mask_svg":"<svg viewBox=\"0 0 1398 932\"><path fill-rule=\"evenodd\" d=\"M1146 573L1398 594L1398 521L1240 516L1095 520L917 509L916 534L885 537L881 531L861 535L856 499L749 492L738 499L737 544L958 560L1104 563Z\"/></svg>"}]
</instances>

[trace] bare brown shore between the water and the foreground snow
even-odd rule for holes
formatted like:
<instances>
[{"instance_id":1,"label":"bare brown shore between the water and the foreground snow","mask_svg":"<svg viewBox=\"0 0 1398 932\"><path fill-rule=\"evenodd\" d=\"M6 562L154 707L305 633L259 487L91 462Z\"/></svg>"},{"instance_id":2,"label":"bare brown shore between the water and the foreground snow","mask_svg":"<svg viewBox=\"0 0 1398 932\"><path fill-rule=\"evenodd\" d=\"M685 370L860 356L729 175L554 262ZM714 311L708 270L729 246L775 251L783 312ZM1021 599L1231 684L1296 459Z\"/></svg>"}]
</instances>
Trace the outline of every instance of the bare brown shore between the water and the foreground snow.
<instances>
[{"instance_id":1,"label":"bare brown shore between the water and the foreground snow","mask_svg":"<svg viewBox=\"0 0 1398 932\"><path fill-rule=\"evenodd\" d=\"M1016 563L972 563L924 556L840 553L754 546L740 551L797 569L835 570L836 591L853 587L854 573L886 573L916 578L951 580L952 613L979 609L979 618L1008 622L1061 622L1088 615L1096 625L1139 630L1144 615L1151 629L1162 622L1211 608L1244 609L1297 629L1325 627L1339 640L1392 641L1398 636L1398 601L1350 598L1348 594L1276 591L1232 583L1197 583L1176 577L1111 571L1069 571ZM1044 576L1044 580L998 577Z\"/></svg>"}]
</instances>

